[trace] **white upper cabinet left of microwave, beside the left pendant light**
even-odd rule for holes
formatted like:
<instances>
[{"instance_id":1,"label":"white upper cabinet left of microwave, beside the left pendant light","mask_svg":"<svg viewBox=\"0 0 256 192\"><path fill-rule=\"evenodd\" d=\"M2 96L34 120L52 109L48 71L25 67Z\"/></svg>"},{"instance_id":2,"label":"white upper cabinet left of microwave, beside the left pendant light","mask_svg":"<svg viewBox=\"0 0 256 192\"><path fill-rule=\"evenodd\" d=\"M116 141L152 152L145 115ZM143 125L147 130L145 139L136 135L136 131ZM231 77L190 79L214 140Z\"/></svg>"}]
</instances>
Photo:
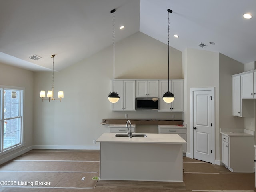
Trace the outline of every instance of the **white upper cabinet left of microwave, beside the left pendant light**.
<instances>
[{"instance_id":1,"label":"white upper cabinet left of microwave, beside the left pendant light","mask_svg":"<svg viewBox=\"0 0 256 192\"><path fill-rule=\"evenodd\" d=\"M135 111L135 80L115 80L115 92L120 99L112 104L113 111Z\"/></svg>"}]
</instances>

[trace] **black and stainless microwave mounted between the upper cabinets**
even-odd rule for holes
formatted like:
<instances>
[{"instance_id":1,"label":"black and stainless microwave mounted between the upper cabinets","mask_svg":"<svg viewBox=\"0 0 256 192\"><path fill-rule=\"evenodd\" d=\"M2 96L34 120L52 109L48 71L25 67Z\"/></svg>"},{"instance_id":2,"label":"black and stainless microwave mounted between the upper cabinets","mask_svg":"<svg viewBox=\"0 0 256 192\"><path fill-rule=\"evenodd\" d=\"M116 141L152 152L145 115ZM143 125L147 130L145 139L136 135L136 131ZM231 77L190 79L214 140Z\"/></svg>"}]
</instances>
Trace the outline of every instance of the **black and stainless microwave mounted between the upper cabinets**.
<instances>
[{"instance_id":1,"label":"black and stainless microwave mounted between the upper cabinets","mask_svg":"<svg viewBox=\"0 0 256 192\"><path fill-rule=\"evenodd\" d=\"M157 97L137 97L136 110L158 110Z\"/></svg>"}]
</instances>

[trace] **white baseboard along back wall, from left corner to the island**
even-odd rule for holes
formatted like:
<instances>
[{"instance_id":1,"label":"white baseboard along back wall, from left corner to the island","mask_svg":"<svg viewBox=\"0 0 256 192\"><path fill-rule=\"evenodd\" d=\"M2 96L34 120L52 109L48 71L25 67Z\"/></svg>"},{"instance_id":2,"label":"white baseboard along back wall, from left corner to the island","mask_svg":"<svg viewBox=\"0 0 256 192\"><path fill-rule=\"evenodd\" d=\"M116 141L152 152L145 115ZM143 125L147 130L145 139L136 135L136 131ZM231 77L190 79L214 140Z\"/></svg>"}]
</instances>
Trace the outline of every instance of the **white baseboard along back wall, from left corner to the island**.
<instances>
[{"instance_id":1,"label":"white baseboard along back wall, from left corner to the island","mask_svg":"<svg viewBox=\"0 0 256 192\"><path fill-rule=\"evenodd\" d=\"M100 150L100 146L34 145L34 149Z\"/></svg>"}]
</instances>

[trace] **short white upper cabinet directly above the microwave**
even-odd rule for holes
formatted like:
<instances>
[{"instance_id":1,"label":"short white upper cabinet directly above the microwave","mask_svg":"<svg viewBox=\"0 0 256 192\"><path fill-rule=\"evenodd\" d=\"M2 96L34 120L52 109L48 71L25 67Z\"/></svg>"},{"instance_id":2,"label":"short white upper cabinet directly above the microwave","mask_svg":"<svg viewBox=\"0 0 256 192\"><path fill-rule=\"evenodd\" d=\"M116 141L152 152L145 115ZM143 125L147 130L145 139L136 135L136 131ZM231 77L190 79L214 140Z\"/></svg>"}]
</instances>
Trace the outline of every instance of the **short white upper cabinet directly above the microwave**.
<instances>
[{"instance_id":1,"label":"short white upper cabinet directly above the microwave","mask_svg":"<svg viewBox=\"0 0 256 192\"><path fill-rule=\"evenodd\" d=\"M158 97L158 80L136 81L136 97Z\"/></svg>"}]
</instances>

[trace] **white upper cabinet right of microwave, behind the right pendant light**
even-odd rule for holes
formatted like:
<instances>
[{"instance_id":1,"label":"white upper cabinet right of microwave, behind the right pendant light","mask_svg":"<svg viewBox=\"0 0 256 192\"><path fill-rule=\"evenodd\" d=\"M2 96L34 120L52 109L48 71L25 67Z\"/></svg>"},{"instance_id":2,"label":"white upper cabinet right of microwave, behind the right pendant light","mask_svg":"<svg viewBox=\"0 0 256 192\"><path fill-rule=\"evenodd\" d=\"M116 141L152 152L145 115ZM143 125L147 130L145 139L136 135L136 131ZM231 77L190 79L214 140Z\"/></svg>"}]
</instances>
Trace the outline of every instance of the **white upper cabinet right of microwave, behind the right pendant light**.
<instances>
[{"instance_id":1,"label":"white upper cabinet right of microwave, behind the right pendant light","mask_svg":"<svg viewBox=\"0 0 256 192\"><path fill-rule=\"evenodd\" d=\"M184 111L184 80L170 80L169 91L174 94L174 101L172 103L166 103L162 99L165 92L168 91L168 81L159 81L159 111Z\"/></svg>"}]
</instances>

